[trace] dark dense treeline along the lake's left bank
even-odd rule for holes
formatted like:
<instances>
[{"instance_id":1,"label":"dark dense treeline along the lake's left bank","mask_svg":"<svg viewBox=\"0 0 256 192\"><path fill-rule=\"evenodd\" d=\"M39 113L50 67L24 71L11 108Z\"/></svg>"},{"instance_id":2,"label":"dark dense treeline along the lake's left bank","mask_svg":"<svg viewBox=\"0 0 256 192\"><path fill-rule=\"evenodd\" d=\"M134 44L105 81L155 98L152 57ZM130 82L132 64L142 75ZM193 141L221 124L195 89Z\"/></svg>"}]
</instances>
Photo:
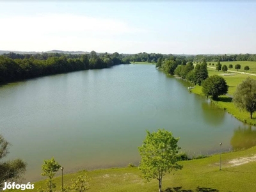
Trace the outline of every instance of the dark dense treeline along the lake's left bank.
<instances>
[{"instance_id":1,"label":"dark dense treeline along the lake's left bank","mask_svg":"<svg viewBox=\"0 0 256 192\"><path fill-rule=\"evenodd\" d=\"M73 58L69 54L58 53L42 54L41 58L37 54L10 53L0 56L0 83L77 70L108 68L121 63L129 63L129 60L125 60L117 52L97 55L92 51L90 54L73 55Z\"/></svg>"}]
</instances>

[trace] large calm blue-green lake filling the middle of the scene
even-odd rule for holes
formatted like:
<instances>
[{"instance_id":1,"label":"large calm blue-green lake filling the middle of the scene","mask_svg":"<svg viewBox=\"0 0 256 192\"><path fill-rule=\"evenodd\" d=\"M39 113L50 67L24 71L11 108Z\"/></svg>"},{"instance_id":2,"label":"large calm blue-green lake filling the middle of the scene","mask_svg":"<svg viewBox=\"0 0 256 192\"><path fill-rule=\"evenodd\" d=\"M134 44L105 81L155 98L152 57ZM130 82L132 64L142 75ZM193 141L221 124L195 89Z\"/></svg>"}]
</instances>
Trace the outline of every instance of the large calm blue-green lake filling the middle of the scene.
<instances>
[{"instance_id":1,"label":"large calm blue-green lake filling the middle of the scene","mask_svg":"<svg viewBox=\"0 0 256 192\"><path fill-rule=\"evenodd\" d=\"M254 141L255 127L188 86L155 65L132 64L3 85L0 134L12 143L8 159L24 159L32 182L43 178L41 165L51 157L64 173L138 165L146 129L172 131L190 156L219 152L220 142L228 151Z\"/></svg>"}]
</instances>

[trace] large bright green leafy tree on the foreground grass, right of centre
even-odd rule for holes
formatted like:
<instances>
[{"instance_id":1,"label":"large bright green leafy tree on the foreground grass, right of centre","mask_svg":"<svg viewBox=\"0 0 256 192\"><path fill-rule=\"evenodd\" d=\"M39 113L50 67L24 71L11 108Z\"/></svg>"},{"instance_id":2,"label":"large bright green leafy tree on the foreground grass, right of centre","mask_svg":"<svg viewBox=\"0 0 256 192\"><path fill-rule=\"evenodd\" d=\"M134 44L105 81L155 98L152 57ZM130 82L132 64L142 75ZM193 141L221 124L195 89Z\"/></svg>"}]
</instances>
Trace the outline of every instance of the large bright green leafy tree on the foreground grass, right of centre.
<instances>
[{"instance_id":1,"label":"large bright green leafy tree on the foreground grass, right of centre","mask_svg":"<svg viewBox=\"0 0 256 192\"><path fill-rule=\"evenodd\" d=\"M172 170L180 170L181 165L177 164L179 147L177 145L179 138L174 138L172 132L164 129L158 129L157 132L150 133L139 147L141 161L140 172L143 179L157 179L159 192L162 189L163 176Z\"/></svg>"}]
</instances>

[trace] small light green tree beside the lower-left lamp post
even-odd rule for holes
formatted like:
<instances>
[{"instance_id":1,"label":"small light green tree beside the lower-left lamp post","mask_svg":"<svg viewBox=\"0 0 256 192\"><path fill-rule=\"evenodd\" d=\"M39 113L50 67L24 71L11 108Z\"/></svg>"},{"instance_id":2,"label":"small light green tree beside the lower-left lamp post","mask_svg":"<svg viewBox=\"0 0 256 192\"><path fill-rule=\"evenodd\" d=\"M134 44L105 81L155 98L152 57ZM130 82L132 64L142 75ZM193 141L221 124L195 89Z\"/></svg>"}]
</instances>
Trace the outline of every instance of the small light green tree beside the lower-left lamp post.
<instances>
[{"instance_id":1,"label":"small light green tree beside the lower-left lamp post","mask_svg":"<svg viewBox=\"0 0 256 192\"><path fill-rule=\"evenodd\" d=\"M46 183L47 191L52 192L53 189L56 188L56 184L52 181L52 179L60 168L60 164L58 164L58 162L56 162L53 157L52 159L44 160L44 164L42 165L43 173L41 175L48 177Z\"/></svg>"}]
</instances>

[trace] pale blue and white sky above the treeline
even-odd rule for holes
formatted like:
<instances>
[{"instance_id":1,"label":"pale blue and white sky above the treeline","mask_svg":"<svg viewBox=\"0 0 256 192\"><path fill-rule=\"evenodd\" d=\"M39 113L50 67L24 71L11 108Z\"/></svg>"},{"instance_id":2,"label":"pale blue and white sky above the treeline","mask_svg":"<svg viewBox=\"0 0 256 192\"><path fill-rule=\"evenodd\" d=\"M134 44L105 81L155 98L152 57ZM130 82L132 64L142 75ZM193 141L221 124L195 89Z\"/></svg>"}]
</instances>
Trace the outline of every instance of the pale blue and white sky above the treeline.
<instances>
[{"instance_id":1,"label":"pale blue and white sky above the treeline","mask_svg":"<svg viewBox=\"0 0 256 192\"><path fill-rule=\"evenodd\" d=\"M256 1L0 0L0 50L256 53Z\"/></svg>"}]
</instances>

